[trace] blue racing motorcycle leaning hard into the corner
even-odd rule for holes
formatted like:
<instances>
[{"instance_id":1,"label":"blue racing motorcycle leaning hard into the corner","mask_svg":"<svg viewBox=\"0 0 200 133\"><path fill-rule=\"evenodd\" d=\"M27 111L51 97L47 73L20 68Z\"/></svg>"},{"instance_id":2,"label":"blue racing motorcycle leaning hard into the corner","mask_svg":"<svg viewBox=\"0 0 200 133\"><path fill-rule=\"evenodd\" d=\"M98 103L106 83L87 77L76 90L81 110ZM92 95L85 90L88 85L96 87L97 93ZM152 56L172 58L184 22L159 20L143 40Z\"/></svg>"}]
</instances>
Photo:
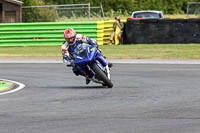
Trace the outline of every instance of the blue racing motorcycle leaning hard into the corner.
<instances>
[{"instance_id":1,"label":"blue racing motorcycle leaning hard into the corner","mask_svg":"<svg viewBox=\"0 0 200 133\"><path fill-rule=\"evenodd\" d=\"M84 76L108 88L113 87L110 69L99 49L88 44L79 44L73 53L75 65Z\"/></svg>"}]
</instances>

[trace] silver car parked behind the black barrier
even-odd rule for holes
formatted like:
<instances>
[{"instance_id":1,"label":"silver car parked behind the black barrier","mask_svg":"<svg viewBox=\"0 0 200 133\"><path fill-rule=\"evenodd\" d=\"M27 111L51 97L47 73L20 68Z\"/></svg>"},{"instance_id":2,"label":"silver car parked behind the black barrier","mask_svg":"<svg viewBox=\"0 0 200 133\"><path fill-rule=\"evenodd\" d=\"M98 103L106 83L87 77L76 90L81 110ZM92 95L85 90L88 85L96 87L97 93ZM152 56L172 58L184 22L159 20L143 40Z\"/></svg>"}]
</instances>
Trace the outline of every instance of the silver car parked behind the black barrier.
<instances>
[{"instance_id":1,"label":"silver car parked behind the black barrier","mask_svg":"<svg viewBox=\"0 0 200 133\"><path fill-rule=\"evenodd\" d=\"M131 18L164 18L164 15L162 11L144 10L133 12Z\"/></svg>"}]
</instances>

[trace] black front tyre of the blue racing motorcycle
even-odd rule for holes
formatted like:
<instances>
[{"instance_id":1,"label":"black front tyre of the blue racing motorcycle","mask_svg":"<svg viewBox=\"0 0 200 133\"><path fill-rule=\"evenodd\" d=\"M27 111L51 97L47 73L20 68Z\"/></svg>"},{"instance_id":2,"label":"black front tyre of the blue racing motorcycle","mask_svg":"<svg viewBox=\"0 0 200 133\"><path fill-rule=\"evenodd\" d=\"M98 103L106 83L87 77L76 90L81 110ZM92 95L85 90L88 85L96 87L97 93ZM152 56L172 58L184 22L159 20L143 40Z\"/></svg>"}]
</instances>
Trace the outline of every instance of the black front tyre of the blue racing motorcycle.
<instances>
[{"instance_id":1,"label":"black front tyre of the blue racing motorcycle","mask_svg":"<svg viewBox=\"0 0 200 133\"><path fill-rule=\"evenodd\" d=\"M93 66L93 70L96 75L105 83L105 85L108 86L108 88L113 87L113 83L108 79L106 74L97 65Z\"/></svg>"}]
</instances>

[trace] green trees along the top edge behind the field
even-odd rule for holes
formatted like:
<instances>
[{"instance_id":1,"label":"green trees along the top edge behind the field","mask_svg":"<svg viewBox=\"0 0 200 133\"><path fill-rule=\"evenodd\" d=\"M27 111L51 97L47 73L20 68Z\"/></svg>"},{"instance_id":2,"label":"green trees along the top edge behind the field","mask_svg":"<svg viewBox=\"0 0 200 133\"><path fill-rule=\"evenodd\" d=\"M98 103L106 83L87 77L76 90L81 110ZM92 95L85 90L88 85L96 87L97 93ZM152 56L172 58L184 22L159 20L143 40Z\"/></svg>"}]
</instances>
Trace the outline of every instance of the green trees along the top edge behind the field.
<instances>
[{"instance_id":1,"label":"green trees along the top edge behind the field","mask_svg":"<svg viewBox=\"0 0 200 133\"><path fill-rule=\"evenodd\" d=\"M132 13L137 10L161 10L164 14L182 14L187 11L187 2L200 0L20 0L23 6L85 4L99 6L102 4L104 12L121 11Z\"/></svg>"}]
</instances>

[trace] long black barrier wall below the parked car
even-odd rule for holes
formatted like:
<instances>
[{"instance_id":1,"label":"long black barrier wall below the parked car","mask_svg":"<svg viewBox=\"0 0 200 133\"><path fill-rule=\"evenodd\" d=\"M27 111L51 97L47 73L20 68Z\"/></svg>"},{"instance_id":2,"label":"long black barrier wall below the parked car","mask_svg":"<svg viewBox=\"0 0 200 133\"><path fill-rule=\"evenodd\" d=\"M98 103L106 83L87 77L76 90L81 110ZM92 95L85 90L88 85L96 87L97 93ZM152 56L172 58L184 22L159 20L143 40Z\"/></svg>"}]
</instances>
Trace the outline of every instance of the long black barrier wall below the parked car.
<instances>
[{"instance_id":1,"label":"long black barrier wall below the parked car","mask_svg":"<svg viewBox=\"0 0 200 133\"><path fill-rule=\"evenodd\" d=\"M200 43L200 19L128 19L126 44Z\"/></svg>"}]
</instances>

